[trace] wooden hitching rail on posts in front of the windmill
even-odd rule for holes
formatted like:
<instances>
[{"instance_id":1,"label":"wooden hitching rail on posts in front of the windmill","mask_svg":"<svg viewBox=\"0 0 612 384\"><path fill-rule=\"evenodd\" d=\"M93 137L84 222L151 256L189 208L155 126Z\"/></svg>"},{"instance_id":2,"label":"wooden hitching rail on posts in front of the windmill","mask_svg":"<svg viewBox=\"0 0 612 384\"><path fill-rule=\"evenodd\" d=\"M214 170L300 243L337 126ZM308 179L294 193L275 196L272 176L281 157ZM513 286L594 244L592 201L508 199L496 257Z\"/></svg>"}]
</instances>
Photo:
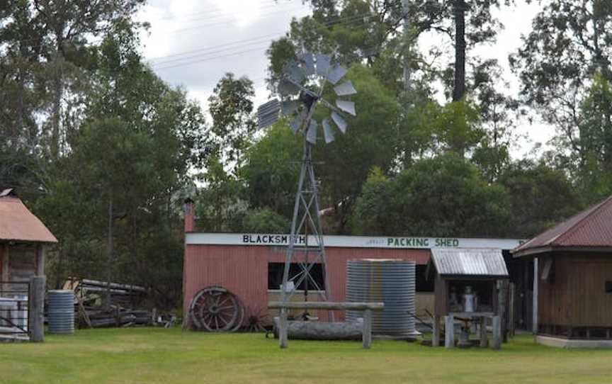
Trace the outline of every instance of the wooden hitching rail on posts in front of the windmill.
<instances>
[{"instance_id":1,"label":"wooden hitching rail on posts in front of the windmill","mask_svg":"<svg viewBox=\"0 0 612 384\"><path fill-rule=\"evenodd\" d=\"M280 302L273 301L268 303L268 308L280 310L278 319L278 346L287 348L288 344L288 310L361 310L363 311L363 330L361 337L363 340L363 348L368 349L372 344L372 311L382 311L385 308L384 303L333 303L329 301L323 302Z\"/></svg>"}]
</instances>

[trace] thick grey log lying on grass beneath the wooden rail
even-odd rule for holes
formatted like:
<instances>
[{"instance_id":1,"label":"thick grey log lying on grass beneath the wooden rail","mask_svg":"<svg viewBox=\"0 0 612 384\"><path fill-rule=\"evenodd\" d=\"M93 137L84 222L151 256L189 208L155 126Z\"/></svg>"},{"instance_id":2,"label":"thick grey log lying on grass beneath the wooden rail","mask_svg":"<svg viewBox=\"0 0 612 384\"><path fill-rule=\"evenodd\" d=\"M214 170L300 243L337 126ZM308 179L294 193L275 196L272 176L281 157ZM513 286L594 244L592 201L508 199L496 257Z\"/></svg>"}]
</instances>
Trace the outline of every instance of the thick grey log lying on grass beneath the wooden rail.
<instances>
[{"instance_id":1,"label":"thick grey log lying on grass beneath the wooden rail","mask_svg":"<svg viewBox=\"0 0 612 384\"><path fill-rule=\"evenodd\" d=\"M278 339L278 317L274 317L274 338ZM361 340L363 319L356 322L288 321L289 339L295 340Z\"/></svg>"}]
</instances>

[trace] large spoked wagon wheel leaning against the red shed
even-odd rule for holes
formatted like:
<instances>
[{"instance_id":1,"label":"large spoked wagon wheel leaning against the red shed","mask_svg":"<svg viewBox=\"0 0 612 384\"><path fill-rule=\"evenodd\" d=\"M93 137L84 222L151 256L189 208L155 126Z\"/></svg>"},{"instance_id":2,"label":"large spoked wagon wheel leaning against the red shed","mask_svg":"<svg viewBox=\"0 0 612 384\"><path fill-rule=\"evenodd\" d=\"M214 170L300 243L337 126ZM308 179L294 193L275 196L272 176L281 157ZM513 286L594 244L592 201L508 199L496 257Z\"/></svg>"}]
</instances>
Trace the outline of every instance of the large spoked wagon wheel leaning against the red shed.
<instances>
[{"instance_id":1,"label":"large spoked wagon wheel leaning against the red shed","mask_svg":"<svg viewBox=\"0 0 612 384\"><path fill-rule=\"evenodd\" d=\"M236 295L222 287L200 290L191 301L191 320L198 329L232 332L242 325L244 310Z\"/></svg>"}]
</instances>

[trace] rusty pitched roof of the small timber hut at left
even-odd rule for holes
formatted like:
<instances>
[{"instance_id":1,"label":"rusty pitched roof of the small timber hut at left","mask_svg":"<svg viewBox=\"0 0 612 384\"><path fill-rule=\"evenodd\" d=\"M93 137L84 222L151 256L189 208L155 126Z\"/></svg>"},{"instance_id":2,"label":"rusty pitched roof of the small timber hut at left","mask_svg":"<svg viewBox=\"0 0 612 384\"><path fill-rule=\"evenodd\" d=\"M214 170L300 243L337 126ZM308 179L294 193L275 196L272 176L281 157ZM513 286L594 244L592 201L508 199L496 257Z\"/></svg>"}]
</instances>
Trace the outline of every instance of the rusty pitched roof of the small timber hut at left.
<instances>
[{"instance_id":1,"label":"rusty pitched roof of the small timber hut at left","mask_svg":"<svg viewBox=\"0 0 612 384\"><path fill-rule=\"evenodd\" d=\"M0 240L57 242L50 230L15 196L0 198Z\"/></svg>"}]
</instances>

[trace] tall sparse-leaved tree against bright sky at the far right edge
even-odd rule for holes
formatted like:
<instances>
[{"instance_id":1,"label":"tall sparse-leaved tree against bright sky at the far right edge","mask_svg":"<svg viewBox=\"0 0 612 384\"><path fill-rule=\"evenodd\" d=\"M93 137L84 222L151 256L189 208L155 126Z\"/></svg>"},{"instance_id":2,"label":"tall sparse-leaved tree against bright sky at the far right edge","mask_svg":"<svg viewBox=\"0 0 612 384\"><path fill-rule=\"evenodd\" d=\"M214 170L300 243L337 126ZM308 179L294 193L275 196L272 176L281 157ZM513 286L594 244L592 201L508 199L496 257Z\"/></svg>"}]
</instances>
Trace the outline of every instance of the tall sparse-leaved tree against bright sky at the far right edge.
<instances>
[{"instance_id":1,"label":"tall sparse-leaved tree against bright sky at the far right edge","mask_svg":"<svg viewBox=\"0 0 612 384\"><path fill-rule=\"evenodd\" d=\"M596 179L608 179L612 141L608 134L612 81L612 4L604 0L543 1L533 30L512 57L521 77L521 94L545 121L555 125L557 162L597 192ZM594 175L593 172L604 174ZM591 178L591 176L594 176ZM590 179L590 181L589 181ZM589 200L591 200L589 198Z\"/></svg>"}]
</instances>

